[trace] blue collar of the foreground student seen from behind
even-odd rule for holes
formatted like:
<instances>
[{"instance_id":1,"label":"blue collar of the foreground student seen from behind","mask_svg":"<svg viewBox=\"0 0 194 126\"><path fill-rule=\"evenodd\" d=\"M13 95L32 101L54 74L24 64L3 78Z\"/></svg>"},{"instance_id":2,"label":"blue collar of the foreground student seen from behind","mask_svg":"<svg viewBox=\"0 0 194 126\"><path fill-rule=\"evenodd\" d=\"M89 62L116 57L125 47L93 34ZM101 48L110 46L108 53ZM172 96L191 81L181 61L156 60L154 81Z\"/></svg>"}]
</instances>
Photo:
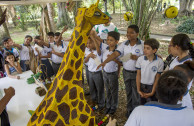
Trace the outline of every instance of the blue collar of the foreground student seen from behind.
<instances>
[{"instance_id":1,"label":"blue collar of the foreground student seen from behind","mask_svg":"<svg viewBox=\"0 0 194 126\"><path fill-rule=\"evenodd\" d=\"M154 106L154 107L168 109L168 110L182 110L186 108L186 106L182 107L182 104L170 105L170 104L164 104L156 101L148 102L144 106Z\"/></svg>"}]
</instances>

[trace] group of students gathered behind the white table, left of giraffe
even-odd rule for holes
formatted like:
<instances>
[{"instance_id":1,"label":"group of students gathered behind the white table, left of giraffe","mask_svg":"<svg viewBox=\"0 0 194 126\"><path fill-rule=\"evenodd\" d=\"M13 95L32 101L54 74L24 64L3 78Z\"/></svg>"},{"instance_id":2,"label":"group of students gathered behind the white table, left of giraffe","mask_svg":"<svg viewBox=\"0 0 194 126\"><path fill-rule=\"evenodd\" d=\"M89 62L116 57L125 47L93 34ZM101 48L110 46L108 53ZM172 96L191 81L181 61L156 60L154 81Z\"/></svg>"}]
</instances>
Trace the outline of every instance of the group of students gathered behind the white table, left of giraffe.
<instances>
[{"instance_id":1,"label":"group of students gathered behind the white table, left of giraffe","mask_svg":"<svg viewBox=\"0 0 194 126\"><path fill-rule=\"evenodd\" d=\"M62 40L62 34L67 30L49 32L48 43L44 42L41 36L34 37L34 46L31 45L33 38L26 35L23 44L16 44L11 38L4 38L2 43L4 48L0 48L1 70L4 72L2 76L20 79L18 73L30 70L31 55L38 58L38 65L41 66L43 84L51 83L51 77L57 74L63 55L67 49L68 42ZM19 50L17 51L16 47ZM49 61L51 59L52 63ZM4 67L3 67L4 66Z\"/></svg>"}]
</instances>

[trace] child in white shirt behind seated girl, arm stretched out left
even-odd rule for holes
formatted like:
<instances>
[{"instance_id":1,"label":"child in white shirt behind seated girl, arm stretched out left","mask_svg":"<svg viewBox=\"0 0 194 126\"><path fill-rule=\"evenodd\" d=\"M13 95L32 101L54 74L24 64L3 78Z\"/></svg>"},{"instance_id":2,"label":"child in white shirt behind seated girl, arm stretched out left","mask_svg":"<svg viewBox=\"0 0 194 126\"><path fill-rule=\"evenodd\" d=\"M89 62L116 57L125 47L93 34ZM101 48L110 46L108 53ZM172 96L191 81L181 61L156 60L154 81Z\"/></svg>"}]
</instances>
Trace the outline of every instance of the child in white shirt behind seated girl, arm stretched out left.
<instances>
[{"instance_id":1,"label":"child in white shirt behind seated girl, arm stretched out left","mask_svg":"<svg viewBox=\"0 0 194 126\"><path fill-rule=\"evenodd\" d=\"M26 35L24 39L24 44L16 44L11 41L10 45L17 47L20 52L20 66L23 71L30 70L30 54L32 54L32 47L30 43L32 42L32 36Z\"/></svg>"}]
</instances>

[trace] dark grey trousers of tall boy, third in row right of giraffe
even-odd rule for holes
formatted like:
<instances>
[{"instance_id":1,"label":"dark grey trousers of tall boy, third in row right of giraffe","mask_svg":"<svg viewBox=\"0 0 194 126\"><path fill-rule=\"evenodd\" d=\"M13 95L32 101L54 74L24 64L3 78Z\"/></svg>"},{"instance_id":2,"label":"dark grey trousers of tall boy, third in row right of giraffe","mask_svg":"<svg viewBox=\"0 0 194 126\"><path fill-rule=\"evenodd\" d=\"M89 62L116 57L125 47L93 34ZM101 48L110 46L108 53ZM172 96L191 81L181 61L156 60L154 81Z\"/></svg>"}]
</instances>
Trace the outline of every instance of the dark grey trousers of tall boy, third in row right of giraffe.
<instances>
[{"instance_id":1,"label":"dark grey trousers of tall boy, third in row right of giraffe","mask_svg":"<svg viewBox=\"0 0 194 126\"><path fill-rule=\"evenodd\" d=\"M140 96L137 93L136 72L123 69L123 79L127 94L127 112L130 114L140 104Z\"/></svg>"}]
</instances>

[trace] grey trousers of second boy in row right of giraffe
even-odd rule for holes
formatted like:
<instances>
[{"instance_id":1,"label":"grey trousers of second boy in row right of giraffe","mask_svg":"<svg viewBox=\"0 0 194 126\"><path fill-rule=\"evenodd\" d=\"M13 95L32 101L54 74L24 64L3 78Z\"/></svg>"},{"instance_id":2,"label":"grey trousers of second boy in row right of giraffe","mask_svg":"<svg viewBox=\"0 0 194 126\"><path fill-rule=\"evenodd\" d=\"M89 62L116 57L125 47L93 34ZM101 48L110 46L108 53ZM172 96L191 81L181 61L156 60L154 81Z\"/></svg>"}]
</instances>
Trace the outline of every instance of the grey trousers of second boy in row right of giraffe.
<instances>
[{"instance_id":1,"label":"grey trousers of second boy in row right of giraffe","mask_svg":"<svg viewBox=\"0 0 194 126\"><path fill-rule=\"evenodd\" d=\"M106 88L106 108L116 110L118 107L118 73L103 72L103 79Z\"/></svg>"}]
</instances>

